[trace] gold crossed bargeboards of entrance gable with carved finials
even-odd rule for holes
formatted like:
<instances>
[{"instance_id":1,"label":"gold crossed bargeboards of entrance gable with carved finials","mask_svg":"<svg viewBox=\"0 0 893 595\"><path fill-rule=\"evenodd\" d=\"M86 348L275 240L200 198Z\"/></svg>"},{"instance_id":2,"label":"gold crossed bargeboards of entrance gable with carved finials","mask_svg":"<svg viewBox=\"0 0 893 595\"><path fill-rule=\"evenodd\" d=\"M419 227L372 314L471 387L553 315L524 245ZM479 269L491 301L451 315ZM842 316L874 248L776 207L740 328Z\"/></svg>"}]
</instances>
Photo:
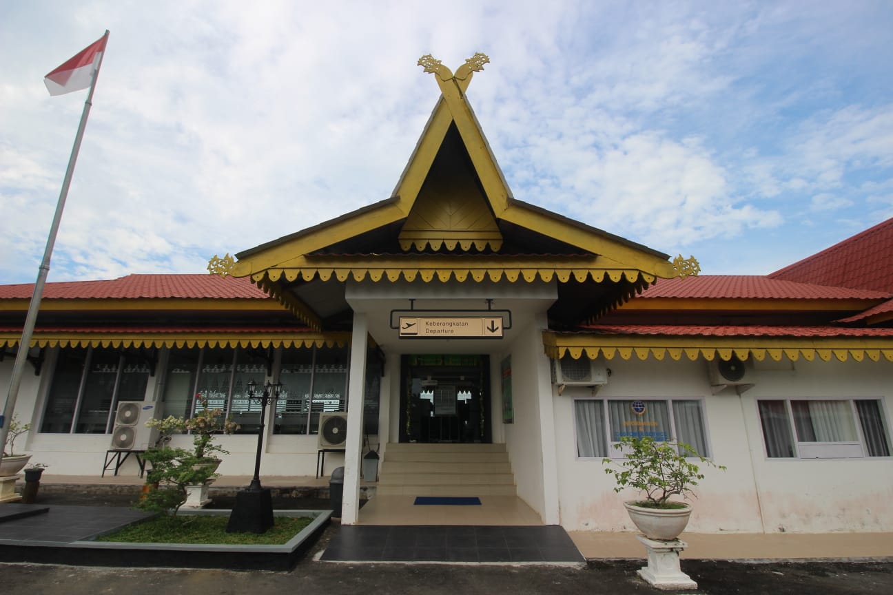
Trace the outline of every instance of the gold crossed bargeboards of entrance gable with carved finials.
<instances>
[{"instance_id":1,"label":"gold crossed bargeboards of entrance gable with carved finials","mask_svg":"<svg viewBox=\"0 0 893 595\"><path fill-rule=\"evenodd\" d=\"M691 268L692 260L680 258L670 262L665 254L645 246L514 200L464 93L471 82L473 72L482 70L486 62L488 62L486 56L475 54L453 75L449 69L430 56L421 58L420 65L426 71L435 74L441 96L390 199L292 236L240 252L237 255L238 262L231 265L227 264L226 259L215 257L211 268L215 272L236 277L251 275L255 282L263 278L264 272L273 272L274 269L279 270L279 273L273 274L276 278L289 269L292 273L288 277L295 278L296 274L300 274L305 280L309 280L308 255L383 226L405 221L405 236L402 238L405 240L404 247L415 243L416 240L430 240L439 233L442 237L434 239L443 240L447 243L447 248L454 245L452 243L455 241L455 245L465 250L472 244L480 249L480 244L484 241L490 243L490 247L493 248L498 242L497 221L502 220L560 239L565 244L577 247L580 252L595 255L587 265L587 269L592 269L590 272L594 273L592 275L594 279L601 279L605 272L608 272L609 277L613 279L638 277L641 274L650 283L655 277L676 277L680 274L697 273L697 267ZM468 159L472 162L477 184L480 184L478 193L480 201L478 197L472 196L466 198L465 202L455 203L455 208L450 207L454 208L454 213L464 210L477 217L477 227L471 226L465 230L469 233L465 234L458 233L461 230L453 223L444 226L442 221L435 223L427 218L432 212L437 211L432 205L436 202L435 194L427 197L423 192L423 186L430 180L432 164L451 128L458 132ZM450 208L446 209L447 213ZM486 216L485 210L492 213L493 219ZM440 214L444 212L445 209L441 205ZM427 219L425 224L420 223L421 219ZM464 243L463 236L466 240ZM598 269L597 273L595 269ZM330 272L337 271L333 269ZM388 278L390 277L388 274Z\"/></svg>"}]
</instances>

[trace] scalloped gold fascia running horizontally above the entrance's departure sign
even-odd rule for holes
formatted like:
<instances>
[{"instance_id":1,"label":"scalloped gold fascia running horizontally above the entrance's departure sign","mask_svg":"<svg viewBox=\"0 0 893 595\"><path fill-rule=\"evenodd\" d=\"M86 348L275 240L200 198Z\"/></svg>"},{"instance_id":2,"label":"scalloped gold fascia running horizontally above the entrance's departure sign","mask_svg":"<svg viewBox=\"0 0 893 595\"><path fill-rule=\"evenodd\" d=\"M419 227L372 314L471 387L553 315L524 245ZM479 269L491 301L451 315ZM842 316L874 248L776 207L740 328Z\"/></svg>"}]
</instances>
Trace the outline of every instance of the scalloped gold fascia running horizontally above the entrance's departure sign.
<instances>
[{"instance_id":1,"label":"scalloped gold fascia running horizontally above the entrance's departure sign","mask_svg":"<svg viewBox=\"0 0 893 595\"><path fill-rule=\"evenodd\" d=\"M355 281L359 282L368 277L375 282L385 280L392 283L400 280L401 277L409 282L413 282L415 279L421 278L421 280L425 283L428 283L435 278L443 283L446 283L450 279L455 279L460 283L464 283L466 281L475 281L480 283L480 281L489 279L490 281L496 283L503 278L505 278L505 280L509 281L510 283L515 283L519 280L533 283L537 279L549 283L554 278L561 283L566 283L571 279L582 283L589 278L591 278L593 281L596 281L597 283L601 283L605 280L605 278L610 279L614 283L620 282L623 278L625 278L627 281L630 281L630 283L637 282L639 278L647 283L653 283L655 280L655 277L653 275L648 275L647 273L643 273L642 271L635 269L563 269L557 266L547 268L539 267L518 269L510 269L506 267L481 267L474 269L468 267L302 267L300 269L267 269L262 273L256 273L251 278L255 282L255 284L258 284L258 286L260 286L264 291L270 293L267 289L267 285L260 285L264 282L264 279L275 283L283 277L285 277L285 279L289 282L296 281L298 278L300 278L302 281L313 281L314 278L319 278L321 281L329 281L330 279L335 279L337 281L346 281L348 278L352 278ZM310 324L310 322L307 320L305 320L305 322L307 322L307 324Z\"/></svg>"}]
</instances>

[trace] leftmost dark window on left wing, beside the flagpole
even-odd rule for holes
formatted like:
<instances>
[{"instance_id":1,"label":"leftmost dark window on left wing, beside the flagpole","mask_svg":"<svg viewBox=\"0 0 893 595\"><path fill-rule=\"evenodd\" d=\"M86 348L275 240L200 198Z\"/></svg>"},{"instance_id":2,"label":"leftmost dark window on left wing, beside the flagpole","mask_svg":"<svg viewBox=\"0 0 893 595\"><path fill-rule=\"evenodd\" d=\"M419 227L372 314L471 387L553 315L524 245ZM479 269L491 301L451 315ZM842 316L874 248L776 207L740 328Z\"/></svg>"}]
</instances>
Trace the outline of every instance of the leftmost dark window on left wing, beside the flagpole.
<instances>
[{"instance_id":1,"label":"leftmost dark window on left wing, beside the flagpole","mask_svg":"<svg viewBox=\"0 0 893 595\"><path fill-rule=\"evenodd\" d=\"M40 431L107 434L119 401L143 401L149 359L138 351L99 347L61 349Z\"/></svg>"}]
</instances>

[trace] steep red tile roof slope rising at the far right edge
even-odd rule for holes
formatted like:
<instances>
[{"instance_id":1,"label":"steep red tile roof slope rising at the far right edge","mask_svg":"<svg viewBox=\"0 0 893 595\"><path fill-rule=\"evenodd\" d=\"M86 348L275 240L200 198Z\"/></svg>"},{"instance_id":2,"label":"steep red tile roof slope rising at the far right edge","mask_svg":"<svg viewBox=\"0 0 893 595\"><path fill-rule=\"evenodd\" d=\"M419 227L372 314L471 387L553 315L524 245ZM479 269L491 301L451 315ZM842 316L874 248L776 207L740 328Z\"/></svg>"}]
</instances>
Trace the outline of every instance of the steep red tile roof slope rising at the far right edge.
<instances>
[{"instance_id":1,"label":"steep red tile roof slope rising at the far right edge","mask_svg":"<svg viewBox=\"0 0 893 595\"><path fill-rule=\"evenodd\" d=\"M893 292L893 219L771 273L768 277Z\"/></svg>"}]
</instances>

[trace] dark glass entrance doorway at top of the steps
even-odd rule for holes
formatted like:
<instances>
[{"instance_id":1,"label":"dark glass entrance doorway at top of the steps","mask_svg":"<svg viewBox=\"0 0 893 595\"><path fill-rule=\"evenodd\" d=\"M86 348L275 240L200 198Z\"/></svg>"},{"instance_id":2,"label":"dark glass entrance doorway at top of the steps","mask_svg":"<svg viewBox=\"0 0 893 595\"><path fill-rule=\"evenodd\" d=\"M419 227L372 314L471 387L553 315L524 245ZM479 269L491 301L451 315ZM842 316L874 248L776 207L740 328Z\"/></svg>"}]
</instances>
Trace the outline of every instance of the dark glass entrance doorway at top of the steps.
<instances>
[{"instance_id":1,"label":"dark glass entrance doorway at top of the steps","mask_svg":"<svg viewBox=\"0 0 893 595\"><path fill-rule=\"evenodd\" d=\"M492 441L487 355L404 355L400 442Z\"/></svg>"}]
</instances>

